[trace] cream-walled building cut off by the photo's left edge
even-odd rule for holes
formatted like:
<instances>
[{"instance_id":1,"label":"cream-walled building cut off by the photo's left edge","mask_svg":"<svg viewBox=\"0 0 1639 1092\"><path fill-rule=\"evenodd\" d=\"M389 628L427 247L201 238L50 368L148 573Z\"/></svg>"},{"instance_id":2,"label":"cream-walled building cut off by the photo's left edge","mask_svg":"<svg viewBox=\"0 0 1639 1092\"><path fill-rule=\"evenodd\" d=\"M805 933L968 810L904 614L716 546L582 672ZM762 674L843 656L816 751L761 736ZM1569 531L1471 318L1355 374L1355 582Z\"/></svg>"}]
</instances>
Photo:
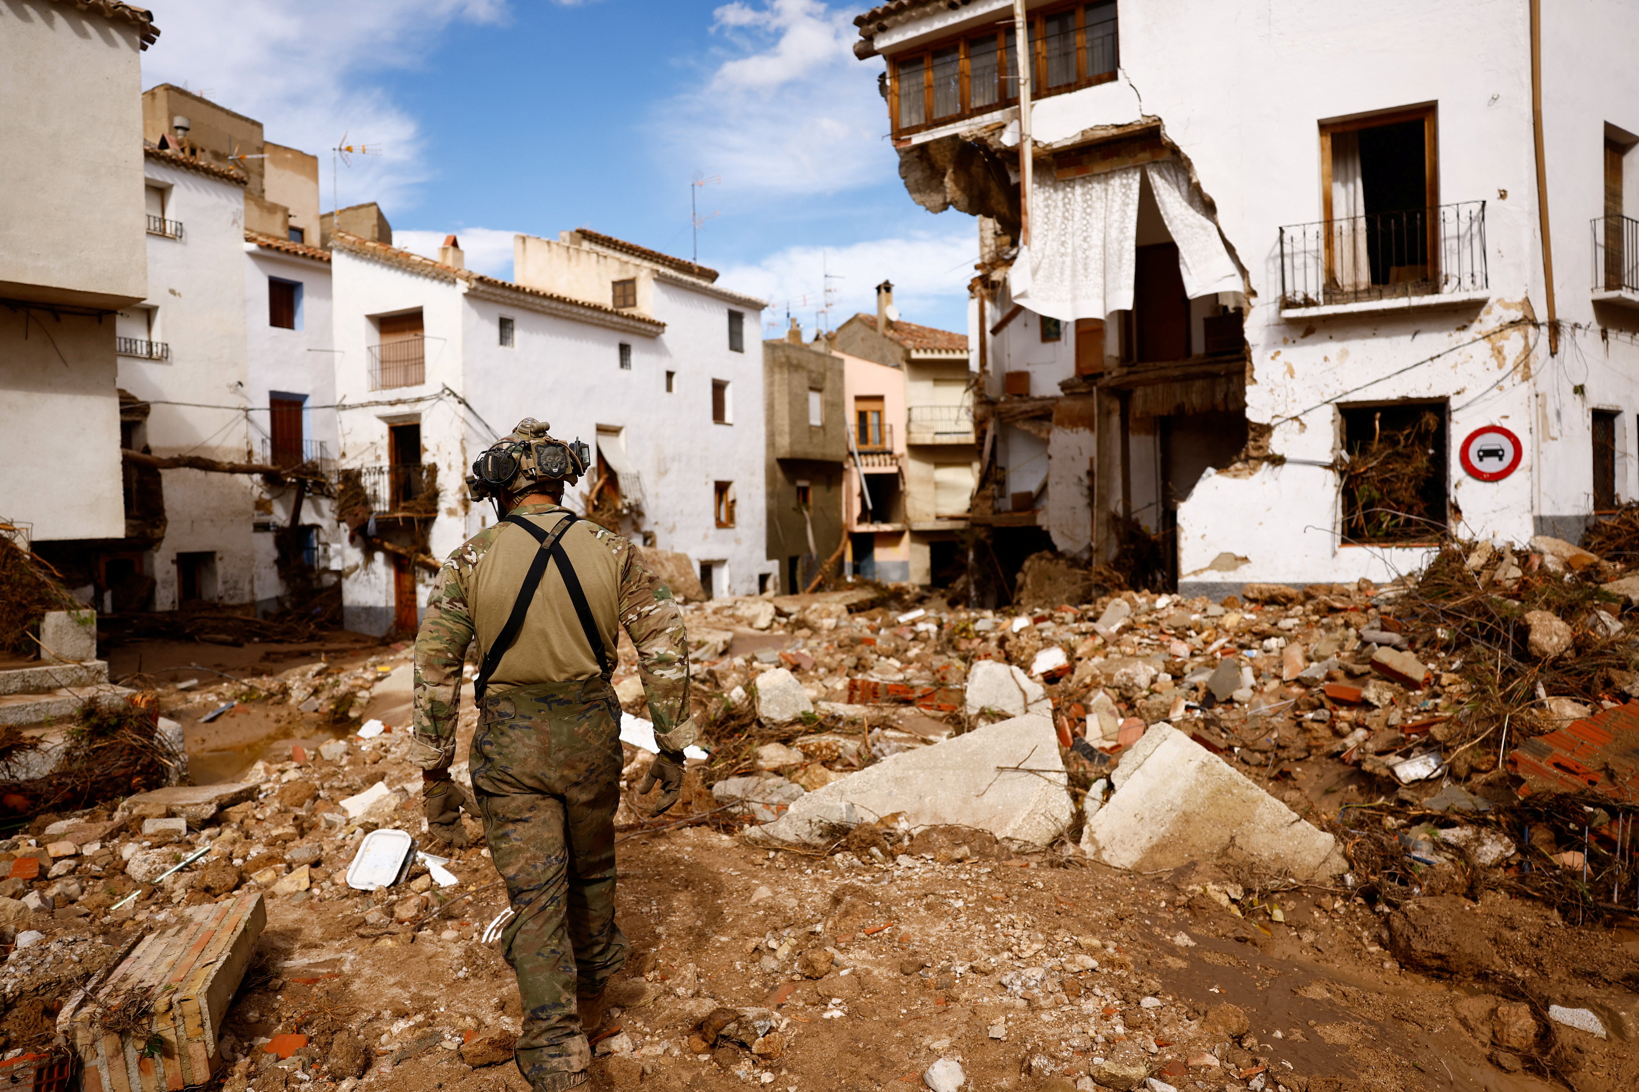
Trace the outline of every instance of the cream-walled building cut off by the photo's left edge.
<instances>
[{"instance_id":1,"label":"cream-walled building cut off by the photo's left edge","mask_svg":"<svg viewBox=\"0 0 1639 1092\"><path fill-rule=\"evenodd\" d=\"M125 535L113 313L148 295L138 93L157 36L123 3L0 7L0 524L74 586Z\"/></svg>"}]
</instances>

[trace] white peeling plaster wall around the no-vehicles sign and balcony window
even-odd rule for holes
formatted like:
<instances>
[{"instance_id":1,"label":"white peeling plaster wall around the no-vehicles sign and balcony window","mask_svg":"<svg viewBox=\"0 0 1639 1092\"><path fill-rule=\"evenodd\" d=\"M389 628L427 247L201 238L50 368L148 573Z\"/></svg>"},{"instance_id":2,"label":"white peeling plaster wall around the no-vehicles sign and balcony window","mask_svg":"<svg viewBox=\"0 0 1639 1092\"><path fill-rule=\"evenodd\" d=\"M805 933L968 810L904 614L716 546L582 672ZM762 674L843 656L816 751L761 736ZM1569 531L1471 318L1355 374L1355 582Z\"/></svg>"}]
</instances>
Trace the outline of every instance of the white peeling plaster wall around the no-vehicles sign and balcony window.
<instances>
[{"instance_id":1,"label":"white peeling plaster wall around the no-vehicles sign and balcony window","mask_svg":"<svg viewBox=\"0 0 1639 1092\"><path fill-rule=\"evenodd\" d=\"M1247 476L1208 475L1182 504L1187 591L1257 580L1383 580L1423 562L1424 550L1339 544L1337 480L1298 462L1334 458L1334 401L1451 406L1451 499L1465 535L1521 540L1541 529L1575 537L1591 499L1595 408L1616 411L1629 426L1618 429L1618 493L1624 499L1639 493L1639 309L1590 298L1590 219L1603 214L1603 124L1639 133L1639 70L1626 62L1639 11L1600 0L1573 10L1547 7L1542 21L1559 318L1587 324L1565 331L1554 359L1537 327L1514 326L1465 344L1521 318L1546 319L1524 3L1390 0L1359 11L1314 0L1257 10L1183 0L1123 5L1119 79L1036 103L1034 136L1046 146L1074 144L1098 126L1159 120L1247 268L1247 417L1275 422L1272 449L1288 462ZM911 25L892 33L901 44L919 39ZM892 41L883 34L879 46ZM1439 203L1487 201L1488 298L1282 316L1280 228L1323 218L1319 121L1419 103L1437 105ZM1629 157L1628 172L1639 182L1639 157ZM1636 216L1639 208L1624 213ZM995 393L1015 362L1036 367L1034 345L1015 329L1021 319L993 341ZM1111 352L1113 341L1106 341ZM1446 355L1429 362L1436 354ZM1526 445L1519 470L1505 481L1483 483L1460 467L1457 445L1482 424L1503 424ZM1151 460L1136 429L1133 450L1137 499L1152 486L1139 481ZM1233 571L1210 568L1223 553L1247 560Z\"/></svg>"}]
</instances>

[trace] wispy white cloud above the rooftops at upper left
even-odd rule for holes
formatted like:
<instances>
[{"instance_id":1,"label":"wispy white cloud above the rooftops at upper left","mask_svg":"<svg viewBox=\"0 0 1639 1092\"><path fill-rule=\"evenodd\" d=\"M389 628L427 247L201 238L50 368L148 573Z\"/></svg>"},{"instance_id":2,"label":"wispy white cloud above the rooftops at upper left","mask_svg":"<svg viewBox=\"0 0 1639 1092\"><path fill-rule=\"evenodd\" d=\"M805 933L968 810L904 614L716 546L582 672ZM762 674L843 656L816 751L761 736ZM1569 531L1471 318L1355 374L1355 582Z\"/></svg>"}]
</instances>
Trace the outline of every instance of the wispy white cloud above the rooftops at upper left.
<instances>
[{"instance_id":1,"label":"wispy white cloud above the rooftops at upper left","mask_svg":"<svg viewBox=\"0 0 1639 1092\"><path fill-rule=\"evenodd\" d=\"M329 149L343 133L379 147L341 167L341 203L380 201L392 219L426 178L425 136L370 77L418 64L451 23L505 16L505 0L170 0L156 13L161 34L143 54L143 85L185 85L256 118L267 139L318 156L325 208Z\"/></svg>"}]
</instances>

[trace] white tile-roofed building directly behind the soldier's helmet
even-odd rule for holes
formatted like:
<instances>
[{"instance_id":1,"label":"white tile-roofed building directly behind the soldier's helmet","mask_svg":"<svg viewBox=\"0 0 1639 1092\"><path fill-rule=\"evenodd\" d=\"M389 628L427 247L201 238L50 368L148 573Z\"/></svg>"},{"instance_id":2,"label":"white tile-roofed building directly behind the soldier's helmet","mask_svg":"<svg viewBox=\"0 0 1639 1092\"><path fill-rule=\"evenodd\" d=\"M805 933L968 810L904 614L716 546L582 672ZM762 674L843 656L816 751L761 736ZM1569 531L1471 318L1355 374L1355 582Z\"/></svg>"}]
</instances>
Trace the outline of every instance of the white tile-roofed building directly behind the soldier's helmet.
<instances>
[{"instance_id":1,"label":"white tile-roofed building directly behind the soldier's helmet","mask_svg":"<svg viewBox=\"0 0 1639 1092\"><path fill-rule=\"evenodd\" d=\"M577 511L590 499L633 540L687 553L716 594L775 570L757 503L760 300L590 231L518 236L515 282L464 268L454 237L441 260L347 231L331 247L349 629L415 627L434 571L415 558L495 519L464 481L526 416L597 452L565 496Z\"/></svg>"}]
</instances>

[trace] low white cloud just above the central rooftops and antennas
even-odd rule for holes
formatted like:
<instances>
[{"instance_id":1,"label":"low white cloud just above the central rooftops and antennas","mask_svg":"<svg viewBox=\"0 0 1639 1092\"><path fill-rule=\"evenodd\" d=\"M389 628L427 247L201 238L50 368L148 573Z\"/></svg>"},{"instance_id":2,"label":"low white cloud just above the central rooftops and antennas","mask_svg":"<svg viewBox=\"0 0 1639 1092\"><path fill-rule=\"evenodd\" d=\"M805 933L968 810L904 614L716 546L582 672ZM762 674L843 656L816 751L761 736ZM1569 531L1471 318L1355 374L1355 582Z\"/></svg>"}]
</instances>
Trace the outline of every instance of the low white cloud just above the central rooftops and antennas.
<instances>
[{"instance_id":1,"label":"low white cloud just above the central rooftops and antennas","mask_svg":"<svg viewBox=\"0 0 1639 1092\"><path fill-rule=\"evenodd\" d=\"M964 218L944 232L844 247L787 247L760 262L724 268L718 283L769 301L762 314L765 336L785 327L787 308L813 336L815 313L824 308L826 272L833 275L831 329L857 311L875 314L877 285L892 280L893 303L906 323L964 331L967 282L977 260L974 221Z\"/></svg>"}]
</instances>

